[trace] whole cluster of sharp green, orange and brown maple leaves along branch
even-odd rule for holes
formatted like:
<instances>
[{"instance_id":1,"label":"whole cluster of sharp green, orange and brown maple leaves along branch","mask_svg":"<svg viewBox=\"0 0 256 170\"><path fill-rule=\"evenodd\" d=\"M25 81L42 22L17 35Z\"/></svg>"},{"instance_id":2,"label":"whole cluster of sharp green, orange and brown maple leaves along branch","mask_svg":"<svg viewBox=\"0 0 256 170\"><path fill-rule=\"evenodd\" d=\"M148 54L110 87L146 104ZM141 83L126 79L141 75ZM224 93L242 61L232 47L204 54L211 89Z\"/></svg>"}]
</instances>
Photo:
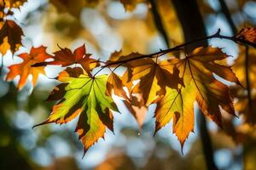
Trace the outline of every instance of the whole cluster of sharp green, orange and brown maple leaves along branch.
<instances>
[{"instance_id":1,"label":"whole cluster of sharp green, orange and brown maple leaves along branch","mask_svg":"<svg viewBox=\"0 0 256 170\"><path fill-rule=\"evenodd\" d=\"M15 53L21 45L23 35L15 21L3 19L13 14L9 8L19 7L24 2L10 0L1 3L0 14L3 17L0 21L0 52L3 55L9 49ZM255 28L245 28L236 37L222 38L246 42L255 47L255 32ZM213 37L221 36L218 32L206 38ZM194 130L195 102L205 116L222 127L221 112L235 115L235 110L230 87L221 78L241 85L236 74L223 61L229 55L224 54L220 48L200 47L187 54L184 50L186 45L187 43L154 54L123 55L122 52L116 52L107 62L93 59L91 54L86 53L84 45L73 52L69 48L60 48L53 54L47 54L44 46L33 47L29 54L19 55L23 62L9 66L7 80L20 76L18 88L21 89L30 74L35 85L39 73L44 74L46 65L67 67L56 77L61 83L48 98L57 103L49 118L38 125L67 123L79 116L76 132L84 144L84 153L104 137L106 127L113 131L112 111L118 111L113 94L124 100L140 125L143 120L138 109L155 104L155 133L172 121L173 133L183 146L189 133ZM178 53L172 54L173 51ZM71 65L76 66L68 67ZM125 67L123 75L115 72L120 66ZM96 68L100 70L93 74ZM105 68L109 68L111 73L99 75Z\"/></svg>"}]
</instances>

